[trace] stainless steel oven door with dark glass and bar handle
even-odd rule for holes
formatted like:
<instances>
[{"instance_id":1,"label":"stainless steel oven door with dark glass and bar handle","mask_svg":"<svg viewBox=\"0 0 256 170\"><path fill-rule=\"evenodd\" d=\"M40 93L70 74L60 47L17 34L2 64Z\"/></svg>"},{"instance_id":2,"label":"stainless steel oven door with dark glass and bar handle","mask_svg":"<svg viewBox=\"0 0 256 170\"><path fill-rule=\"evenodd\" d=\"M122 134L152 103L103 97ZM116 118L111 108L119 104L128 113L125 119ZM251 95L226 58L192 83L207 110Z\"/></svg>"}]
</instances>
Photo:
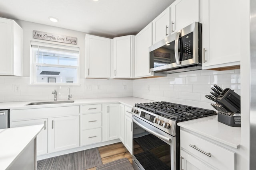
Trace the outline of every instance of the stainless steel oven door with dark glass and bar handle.
<instances>
[{"instance_id":1,"label":"stainless steel oven door with dark glass and bar handle","mask_svg":"<svg viewBox=\"0 0 256 170\"><path fill-rule=\"evenodd\" d=\"M176 137L132 115L135 170L176 170Z\"/></svg>"}]
</instances>

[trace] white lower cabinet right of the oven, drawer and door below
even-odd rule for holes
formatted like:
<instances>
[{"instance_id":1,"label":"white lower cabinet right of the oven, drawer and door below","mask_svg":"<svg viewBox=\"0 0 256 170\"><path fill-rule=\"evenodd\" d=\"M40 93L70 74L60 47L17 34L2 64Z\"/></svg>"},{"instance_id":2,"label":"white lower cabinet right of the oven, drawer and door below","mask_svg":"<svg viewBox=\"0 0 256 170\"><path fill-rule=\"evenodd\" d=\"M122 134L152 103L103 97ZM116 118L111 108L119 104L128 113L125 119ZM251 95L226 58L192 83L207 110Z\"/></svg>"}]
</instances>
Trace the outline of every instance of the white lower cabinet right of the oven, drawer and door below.
<instances>
[{"instance_id":1,"label":"white lower cabinet right of the oven, drawer and door below","mask_svg":"<svg viewBox=\"0 0 256 170\"><path fill-rule=\"evenodd\" d=\"M235 152L182 129L180 156L184 170L235 170Z\"/></svg>"}]
</instances>

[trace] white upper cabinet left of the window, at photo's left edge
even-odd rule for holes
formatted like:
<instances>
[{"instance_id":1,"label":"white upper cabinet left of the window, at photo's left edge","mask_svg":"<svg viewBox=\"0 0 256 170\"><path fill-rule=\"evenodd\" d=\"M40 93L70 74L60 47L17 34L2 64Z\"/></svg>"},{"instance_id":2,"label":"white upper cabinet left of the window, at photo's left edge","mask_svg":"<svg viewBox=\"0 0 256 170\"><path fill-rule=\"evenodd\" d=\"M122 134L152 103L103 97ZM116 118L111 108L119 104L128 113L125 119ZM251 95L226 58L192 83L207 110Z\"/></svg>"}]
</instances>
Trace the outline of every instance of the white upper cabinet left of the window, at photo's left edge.
<instances>
[{"instance_id":1,"label":"white upper cabinet left of the window, at photo's left edge","mask_svg":"<svg viewBox=\"0 0 256 170\"><path fill-rule=\"evenodd\" d=\"M22 76L22 28L0 18L0 75Z\"/></svg>"}]
</instances>

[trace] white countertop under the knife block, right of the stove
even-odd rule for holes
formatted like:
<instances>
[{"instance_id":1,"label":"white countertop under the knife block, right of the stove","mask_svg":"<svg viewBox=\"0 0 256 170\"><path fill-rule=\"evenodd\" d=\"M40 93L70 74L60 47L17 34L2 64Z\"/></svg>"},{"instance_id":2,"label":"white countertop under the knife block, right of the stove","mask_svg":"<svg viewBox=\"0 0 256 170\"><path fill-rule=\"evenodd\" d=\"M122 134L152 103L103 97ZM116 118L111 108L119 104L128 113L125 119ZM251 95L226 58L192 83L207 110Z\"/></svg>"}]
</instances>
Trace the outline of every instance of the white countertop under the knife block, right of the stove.
<instances>
[{"instance_id":1,"label":"white countertop under the knife block, right of the stove","mask_svg":"<svg viewBox=\"0 0 256 170\"><path fill-rule=\"evenodd\" d=\"M218 122L218 115L183 121L178 123L178 126L235 149L240 148L241 127L231 127Z\"/></svg>"}]
</instances>

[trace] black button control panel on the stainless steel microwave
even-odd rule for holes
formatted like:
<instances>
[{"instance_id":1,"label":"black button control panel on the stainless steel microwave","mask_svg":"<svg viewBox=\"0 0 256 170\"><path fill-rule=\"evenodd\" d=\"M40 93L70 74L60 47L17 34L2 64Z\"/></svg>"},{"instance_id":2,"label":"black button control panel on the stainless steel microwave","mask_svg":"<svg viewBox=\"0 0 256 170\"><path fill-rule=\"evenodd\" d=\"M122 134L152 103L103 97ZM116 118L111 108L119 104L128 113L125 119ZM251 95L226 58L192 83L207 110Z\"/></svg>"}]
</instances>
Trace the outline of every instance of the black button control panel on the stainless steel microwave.
<instances>
[{"instance_id":1,"label":"black button control panel on the stainless steel microwave","mask_svg":"<svg viewBox=\"0 0 256 170\"><path fill-rule=\"evenodd\" d=\"M182 61L193 59L193 32L182 36Z\"/></svg>"}]
</instances>

